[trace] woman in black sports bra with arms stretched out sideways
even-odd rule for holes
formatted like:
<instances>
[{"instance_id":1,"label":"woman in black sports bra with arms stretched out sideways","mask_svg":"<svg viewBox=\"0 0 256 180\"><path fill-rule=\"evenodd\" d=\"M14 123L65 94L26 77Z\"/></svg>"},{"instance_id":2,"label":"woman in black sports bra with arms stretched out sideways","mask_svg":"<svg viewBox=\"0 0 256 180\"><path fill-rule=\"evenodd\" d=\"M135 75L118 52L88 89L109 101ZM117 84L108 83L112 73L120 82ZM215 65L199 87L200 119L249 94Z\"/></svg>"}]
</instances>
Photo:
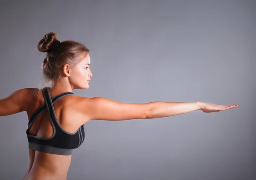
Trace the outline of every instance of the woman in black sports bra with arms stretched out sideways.
<instances>
[{"instance_id":1,"label":"woman in black sports bra with arms stretched out sideways","mask_svg":"<svg viewBox=\"0 0 256 180\"><path fill-rule=\"evenodd\" d=\"M83 124L90 120L150 119L237 107L203 102L132 104L75 96L71 92L88 89L93 76L89 50L73 40L59 42L53 32L38 42L38 50L47 53L42 71L51 86L17 90L0 100L0 116L26 111L29 117L26 133L30 160L23 180L66 180L72 149L83 143Z\"/></svg>"}]
</instances>

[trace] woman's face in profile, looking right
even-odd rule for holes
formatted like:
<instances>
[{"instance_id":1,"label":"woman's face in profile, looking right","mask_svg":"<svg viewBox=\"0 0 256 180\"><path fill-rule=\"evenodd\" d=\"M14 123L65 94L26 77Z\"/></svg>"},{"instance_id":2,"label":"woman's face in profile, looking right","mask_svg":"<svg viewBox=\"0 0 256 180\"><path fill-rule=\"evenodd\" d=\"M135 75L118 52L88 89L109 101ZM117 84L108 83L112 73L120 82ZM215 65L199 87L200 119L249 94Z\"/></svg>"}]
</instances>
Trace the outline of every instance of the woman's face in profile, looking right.
<instances>
[{"instance_id":1,"label":"woman's face in profile, looking right","mask_svg":"<svg viewBox=\"0 0 256 180\"><path fill-rule=\"evenodd\" d=\"M70 84L74 89L88 89L90 77L93 76L90 71L90 56L87 56L75 67L71 68Z\"/></svg>"}]
</instances>

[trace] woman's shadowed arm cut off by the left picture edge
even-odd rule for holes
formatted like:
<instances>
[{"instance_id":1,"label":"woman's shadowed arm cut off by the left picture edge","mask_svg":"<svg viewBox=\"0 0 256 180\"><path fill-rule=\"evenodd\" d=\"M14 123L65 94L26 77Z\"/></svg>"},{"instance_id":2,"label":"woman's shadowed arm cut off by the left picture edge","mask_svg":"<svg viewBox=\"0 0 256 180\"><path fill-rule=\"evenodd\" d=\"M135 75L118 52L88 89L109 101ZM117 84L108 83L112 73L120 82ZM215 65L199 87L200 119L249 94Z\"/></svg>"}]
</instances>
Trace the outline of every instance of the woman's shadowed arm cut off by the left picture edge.
<instances>
[{"instance_id":1,"label":"woman's shadowed arm cut off by the left picture edge","mask_svg":"<svg viewBox=\"0 0 256 180\"><path fill-rule=\"evenodd\" d=\"M12 115L26 111L33 88L25 88L0 99L0 116Z\"/></svg>"}]
</instances>

